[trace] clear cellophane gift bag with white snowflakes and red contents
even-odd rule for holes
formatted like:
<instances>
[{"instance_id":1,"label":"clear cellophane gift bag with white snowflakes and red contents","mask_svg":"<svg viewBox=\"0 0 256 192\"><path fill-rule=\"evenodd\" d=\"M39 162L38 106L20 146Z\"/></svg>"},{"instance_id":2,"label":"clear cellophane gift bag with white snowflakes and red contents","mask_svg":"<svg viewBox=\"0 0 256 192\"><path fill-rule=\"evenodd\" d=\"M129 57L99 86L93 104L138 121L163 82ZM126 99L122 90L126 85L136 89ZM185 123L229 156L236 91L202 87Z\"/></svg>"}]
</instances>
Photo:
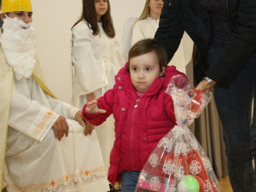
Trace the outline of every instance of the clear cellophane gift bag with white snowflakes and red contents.
<instances>
[{"instance_id":1,"label":"clear cellophane gift bag with white snowflakes and red contents","mask_svg":"<svg viewBox=\"0 0 256 192\"><path fill-rule=\"evenodd\" d=\"M210 161L187 126L198 118L211 98L193 89L185 76L176 75L166 93L174 102L177 125L158 143L143 167L136 191L222 191Z\"/></svg>"}]
</instances>

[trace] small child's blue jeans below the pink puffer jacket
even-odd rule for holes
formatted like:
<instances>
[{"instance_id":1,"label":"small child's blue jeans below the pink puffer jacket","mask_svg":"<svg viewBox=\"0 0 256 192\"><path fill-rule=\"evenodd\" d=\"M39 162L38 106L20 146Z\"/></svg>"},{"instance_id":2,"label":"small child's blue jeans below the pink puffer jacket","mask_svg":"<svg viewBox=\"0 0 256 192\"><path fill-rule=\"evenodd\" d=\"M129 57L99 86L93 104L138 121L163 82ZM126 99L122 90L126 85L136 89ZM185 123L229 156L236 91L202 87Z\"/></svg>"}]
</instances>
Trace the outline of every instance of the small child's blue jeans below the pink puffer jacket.
<instances>
[{"instance_id":1,"label":"small child's blue jeans below the pink puffer jacket","mask_svg":"<svg viewBox=\"0 0 256 192\"><path fill-rule=\"evenodd\" d=\"M121 174L122 192L134 192L139 179L140 172L123 170Z\"/></svg>"}]
</instances>

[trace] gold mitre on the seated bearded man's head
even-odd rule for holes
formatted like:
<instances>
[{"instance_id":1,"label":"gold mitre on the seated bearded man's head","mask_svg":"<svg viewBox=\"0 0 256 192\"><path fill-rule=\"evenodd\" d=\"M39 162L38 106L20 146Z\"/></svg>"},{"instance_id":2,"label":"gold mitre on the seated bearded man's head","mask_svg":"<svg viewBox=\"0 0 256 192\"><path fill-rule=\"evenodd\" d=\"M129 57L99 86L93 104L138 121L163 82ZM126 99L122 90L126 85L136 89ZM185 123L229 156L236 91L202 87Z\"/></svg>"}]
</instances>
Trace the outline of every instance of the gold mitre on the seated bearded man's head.
<instances>
[{"instance_id":1,"label":"gold mitre on the seated bearded man's head","mask_svg":"<svg viewBox=\"0 0 256 192\"><path fill-rule=\"evenodd\" d=\"M30 0L2 0L1 13L29 11L32 12Z\"/></svg>"}]
</instances>

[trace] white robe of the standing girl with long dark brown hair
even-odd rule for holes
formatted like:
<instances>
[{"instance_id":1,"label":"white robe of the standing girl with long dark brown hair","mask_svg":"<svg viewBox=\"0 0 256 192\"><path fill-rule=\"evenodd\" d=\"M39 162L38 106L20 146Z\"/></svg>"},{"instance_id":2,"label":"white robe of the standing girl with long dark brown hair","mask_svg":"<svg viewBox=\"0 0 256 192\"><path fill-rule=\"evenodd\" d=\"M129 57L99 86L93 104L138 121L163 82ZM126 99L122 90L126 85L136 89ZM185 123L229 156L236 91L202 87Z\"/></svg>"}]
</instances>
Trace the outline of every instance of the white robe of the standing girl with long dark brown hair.
<instances>
[{"instance_id":1,"label":"white robe of the standing girl with long dark brown hair","mask_svg":"<svg viewBox=\"0 0 256 192\"><path fill-rule=\"evenodd\" d=\"M102 96L112 89L115 75L124 66L116 38L106 36L100 23L100 33L94 36L87 22L82 20L73 28L72 61L75 69L74 95L80 109L87 103L86 95L94 92ZM115 140L114 118L111 115L104 123L95 127L106 167L110 166L110 152Z\"/></svg>"}]
</instances>

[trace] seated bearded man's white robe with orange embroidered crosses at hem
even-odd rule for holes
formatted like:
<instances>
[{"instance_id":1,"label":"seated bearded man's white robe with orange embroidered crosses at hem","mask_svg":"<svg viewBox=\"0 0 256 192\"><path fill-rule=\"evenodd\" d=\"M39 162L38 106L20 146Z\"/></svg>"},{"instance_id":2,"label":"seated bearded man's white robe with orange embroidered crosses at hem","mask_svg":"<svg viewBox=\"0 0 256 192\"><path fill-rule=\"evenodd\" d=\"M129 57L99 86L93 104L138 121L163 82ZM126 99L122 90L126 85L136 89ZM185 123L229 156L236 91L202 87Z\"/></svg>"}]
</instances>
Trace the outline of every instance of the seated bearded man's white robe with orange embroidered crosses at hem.
<instances>
[{"instance_id":1,"label":"seated bearded man's white robe with orange embroidered crosses at hem","mask_svg":"<svg viewBox=\"0 0 256 192\"><path fill-rule=\"evenodd\" d=\"M6 164L7 191L77 191L78 169L82 191L107 191L108 180L96 134L72 120L79 109L52 98L31 76L14 80L10 106ZM67 118L69 135L58 141L52 125Z\"/></svg>"}]
</instances>

